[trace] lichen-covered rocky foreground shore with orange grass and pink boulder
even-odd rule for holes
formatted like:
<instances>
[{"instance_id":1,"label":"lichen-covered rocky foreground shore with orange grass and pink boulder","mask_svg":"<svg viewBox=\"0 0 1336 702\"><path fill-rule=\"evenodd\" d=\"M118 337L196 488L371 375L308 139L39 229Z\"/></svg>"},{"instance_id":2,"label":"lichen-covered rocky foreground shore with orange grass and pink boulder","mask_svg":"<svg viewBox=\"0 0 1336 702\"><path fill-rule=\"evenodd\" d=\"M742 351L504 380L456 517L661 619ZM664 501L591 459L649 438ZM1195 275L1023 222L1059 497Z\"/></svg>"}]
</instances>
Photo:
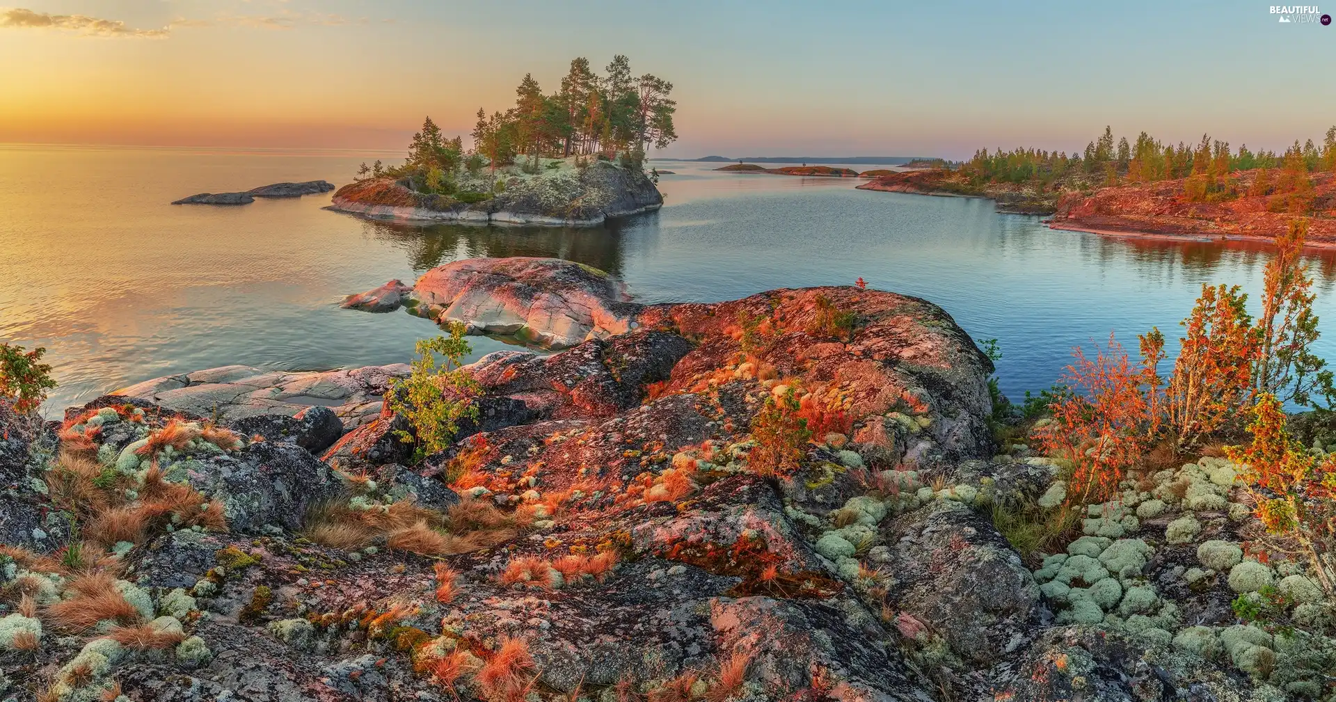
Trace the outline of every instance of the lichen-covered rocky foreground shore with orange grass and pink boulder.
<instances>
[{"instance_id":1,"label":"lichen-covered rocky foreground shore with orange grass and pink boulder","mask_svg":"<svg viewBox=\"0 0 1336 702\"><path fill-rule=\"evenodd\" d=\"M1018 440L1054 420L999 424L989 356L929 302L850 286L637 304L553 259L407 287L383 291L565 350L437 376L477 411L429 451L436 424L391 400L422 372L406 366L167 376L49 423L0 402L0 685L182 702L1329 690L1329 601L1303 561L1250 550L1242 466L1161 460L1061 516L1069 459ZM1047 514L1066 531L1035 541ZM1253 601L1284 629L1241 619Z\"/></svg>"}]
</instances>

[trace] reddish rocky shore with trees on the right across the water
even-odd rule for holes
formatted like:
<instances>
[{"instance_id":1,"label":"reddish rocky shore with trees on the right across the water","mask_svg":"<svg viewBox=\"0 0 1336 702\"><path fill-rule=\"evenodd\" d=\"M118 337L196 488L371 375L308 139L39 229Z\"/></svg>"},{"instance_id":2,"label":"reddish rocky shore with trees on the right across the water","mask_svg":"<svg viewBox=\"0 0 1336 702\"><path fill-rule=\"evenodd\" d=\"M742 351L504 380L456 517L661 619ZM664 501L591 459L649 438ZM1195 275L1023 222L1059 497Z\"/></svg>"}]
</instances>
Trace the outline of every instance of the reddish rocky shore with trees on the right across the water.
<instances>
[{"instance_id":1,"label":"reddish rocky shore with trees on the right across the water","mask_svg":"<svg viewBox=\"0 0 1336 702\"><path fill-rule=\"evenodd\" d=\"M989 198L999 212L1050 215L1055 230L1173 240L1271 242L1309 219L1307 246L1336 246L1336 127L1283 155L1204 135L1197 145L1112 129L1083 153L981 149L961 164L880 175L860 190ZM867 175L867 173L864 173Z\"/></svg>"}]
</instances>

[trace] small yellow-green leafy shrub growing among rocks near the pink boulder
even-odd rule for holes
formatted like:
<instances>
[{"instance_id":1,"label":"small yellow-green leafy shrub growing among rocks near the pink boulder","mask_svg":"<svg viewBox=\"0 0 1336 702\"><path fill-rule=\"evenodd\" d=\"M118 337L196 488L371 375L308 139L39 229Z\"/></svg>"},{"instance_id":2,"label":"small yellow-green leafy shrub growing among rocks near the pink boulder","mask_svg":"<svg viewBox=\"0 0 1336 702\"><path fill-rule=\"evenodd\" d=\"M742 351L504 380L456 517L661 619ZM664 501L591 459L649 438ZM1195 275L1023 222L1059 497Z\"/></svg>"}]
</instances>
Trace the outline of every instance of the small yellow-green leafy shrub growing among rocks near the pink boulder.
<instances>
[{"instance_id":1,"label":"small yellow-green leafy shrub growing among rocks near the pink boulder","mask_svg":"<svg viewBox=\"0 0 1336 702\"><path fill-rule=\"evenodd\" d=\"M407 419L413 428L395 430L405 443L417 442L414 460L422 460L450 446L460 422L477 419L478 408L473 398L480 387L466 371L461 370L462 359L473 350L464 339L464 324L450 324L450 336L434 336L417 343L418 358L413 362L413 372L395 380L390 394L390 408ZM437 364L440 354L445 362Z\"/></svg>"}]
</instances>

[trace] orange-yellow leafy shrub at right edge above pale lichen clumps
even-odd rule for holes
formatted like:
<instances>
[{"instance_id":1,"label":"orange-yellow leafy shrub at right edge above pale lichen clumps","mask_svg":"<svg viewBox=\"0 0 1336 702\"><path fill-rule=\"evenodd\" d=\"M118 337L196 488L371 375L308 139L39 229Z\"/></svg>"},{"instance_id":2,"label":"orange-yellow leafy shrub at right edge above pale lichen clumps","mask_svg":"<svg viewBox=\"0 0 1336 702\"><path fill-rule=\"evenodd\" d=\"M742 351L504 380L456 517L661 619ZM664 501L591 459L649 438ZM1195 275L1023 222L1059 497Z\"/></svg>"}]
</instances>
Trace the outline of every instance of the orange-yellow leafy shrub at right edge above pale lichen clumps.
<instances>
[{"instance_id":1,"label":"orange-yellow leafy shrub at right edge above pale lichen clumps","mask_svg":"<svg viewBox=\"0 0 1336 702\"><path fill-rule=\"evenodd\" d=\"M1319 459L1293 440L1275 395L1257 399L1248 431L1252 443L1225 454L1245 466L1240 478L1269 546L1301 553L1327 595L1336 595L1336 454Z\"/></svg>"}]
</instances>

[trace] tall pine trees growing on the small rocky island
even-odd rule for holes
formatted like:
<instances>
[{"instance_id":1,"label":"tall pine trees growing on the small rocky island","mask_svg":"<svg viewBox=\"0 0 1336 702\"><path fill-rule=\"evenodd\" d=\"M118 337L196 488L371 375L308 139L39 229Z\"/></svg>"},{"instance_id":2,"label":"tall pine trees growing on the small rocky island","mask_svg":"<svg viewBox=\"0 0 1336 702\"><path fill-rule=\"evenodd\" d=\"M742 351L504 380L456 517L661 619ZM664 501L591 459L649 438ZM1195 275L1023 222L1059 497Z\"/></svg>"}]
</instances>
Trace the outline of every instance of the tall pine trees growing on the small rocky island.
<instances>
[{"instance_id":1,"label":"tall pine trees growing on the small rocky island","mask_svg":"<svg viewBox=\"0 0 1336 702\"><path fill-rule=\"evenodd\" d=\"M450 194L461 165L477 173L488 164L494 173L497 167L522 159L526 172L537 172L540 157L611 160L620 155L623 164L639 167L649 147L664 148L677 139L677 103L671 93L672 83L652 73L635 77L625 56L613 56L604 75L591 69L588 59L574 59L552 95L544 95L533 75L526 73L516 88L514 107L490 116L478 108L472 149L465 151L458 136L445 139L426 117L413 135L403 165L363 163L358 180L410 178L417 190Z\"/></svg>"}]
</instances>

